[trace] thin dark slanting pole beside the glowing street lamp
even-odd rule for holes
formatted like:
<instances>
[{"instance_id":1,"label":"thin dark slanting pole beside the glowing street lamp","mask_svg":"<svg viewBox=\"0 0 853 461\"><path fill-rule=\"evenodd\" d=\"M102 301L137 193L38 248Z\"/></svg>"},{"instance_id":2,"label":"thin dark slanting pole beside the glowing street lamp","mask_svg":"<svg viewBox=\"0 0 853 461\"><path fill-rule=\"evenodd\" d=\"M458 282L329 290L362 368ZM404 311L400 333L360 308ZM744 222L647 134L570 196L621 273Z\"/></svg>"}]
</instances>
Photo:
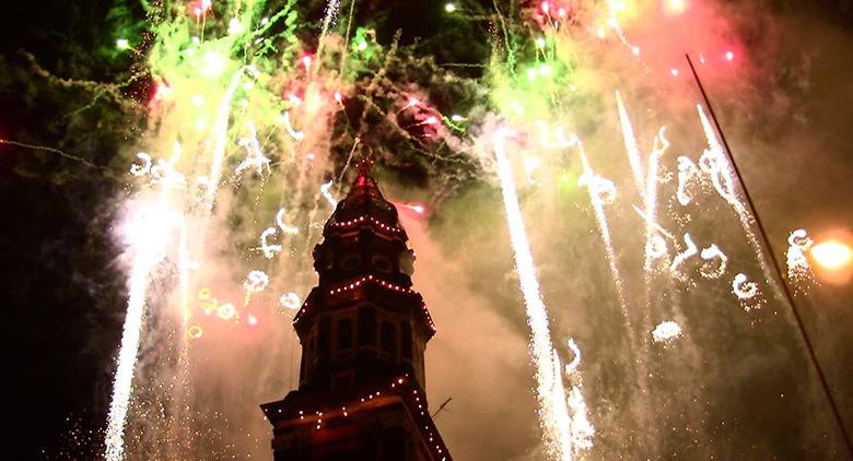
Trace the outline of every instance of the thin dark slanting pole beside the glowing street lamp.
<instances>
[{"instance_id":1,"label":"thin dark slanting pole beside the glowing street lamp","mask_svg":"<svg viewBox=\"0 0 853 461\"><path fill-rule=\"evenodd\" d=\"M787 280L782 275L782 269L779 265L776 253L773 252L773 246L770 245L770 238L767 236L764 225L758 217L756 204L752 202L752 198L749 196L749 191L746 188L746 182L744 182L744 177L740 175L740 169L738 169L737 163L735 163L735 157L732 155L732 150L728 147L728 141L726 141L725 133L723 133L723 128L720 126L720 121L716 119L714 108L711 107L711 101L708 98L708 93L705 93L705 88L702 86L702 81L699 80L699 74L693 67L693 61L690 60L690 55L685 55L685 57L687 58L687 63L690 64L690 70L693 72L693 78L696 79L696 83L699 85L699 91L702 92L702 98L705 101L708 111L711 114L711 118L714 119L714 126L716 126L716 131L720 133L720 139L723 141L723 146L725 147L725 155L728 157L728 163L732 165L732 169L735 170L737 181L740 182L740 189L744 191L744 198L746 198L746 201L749 204L749 211L752 213L752 217L756 220L758 232L761 235L761 240L764 245L764 252L769 253L770 256L770 260L773 263L774 273L779 279L779 283L782 285L782 293L785 295L785 300L787 300L787 305L791 306L791 311L794 314L794 319L796 320L799 335L806 345L808 356L811 359L811 365L815 366L818 379L820 380L820 387L823 389L823 394L826 395L827 401L829 401L829 407L832 409L832 415L836 417L836 424L841 430L841 436L844 439L844 445L848 448L848 454L850 454L850 458L853 459L853 444L850 441L850 434L848 434L848 429L844 427L844 421L841 418L841 412L839 412L836 399L832 397L832 391L829 389L827 377L823 375L823 369L820 367L820 363L817 359L817 354L815 354L815 347L811 345L811 340L808 339L808 333L806 333L806 327L803 323L803 318L799 316L799 309L797 309L797 305L794 303L794 296L791 294L791 287L787 284Z\"/></svg>"}]
</instances>

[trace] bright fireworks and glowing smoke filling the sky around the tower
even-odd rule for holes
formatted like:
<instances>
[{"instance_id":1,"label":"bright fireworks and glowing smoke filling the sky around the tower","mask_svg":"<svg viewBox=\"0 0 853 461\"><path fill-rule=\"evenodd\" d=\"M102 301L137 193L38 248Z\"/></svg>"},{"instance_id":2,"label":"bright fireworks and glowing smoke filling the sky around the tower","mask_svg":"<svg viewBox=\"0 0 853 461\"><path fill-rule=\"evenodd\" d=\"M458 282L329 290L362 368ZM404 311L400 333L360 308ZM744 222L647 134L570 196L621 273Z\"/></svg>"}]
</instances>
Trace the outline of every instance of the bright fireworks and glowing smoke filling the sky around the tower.
<instances>
[{"instance_id":1,"label":"bright fireworks and glowing smoke filling the sky around the tower","mask_svg":"<svg viewBox=\"0 0 853 461\"><path fill-rule=\"evenodd\" d=\"M0 154L8 215L35 217L10 224L30 275L8 293L78 314L9 336L100 354L74 378L97 410L39 449L269 458L258 404L299 386L312 248L367 158L419 256L456 459L843 457L743 190L850 421L851 288L813 265L849 259L817 236L853 221L850 83L828 76L853 60L825 51L853 33L794 2L397 3L21 13ZM60 15L96 45L32 32Z\"/></svg>"}]
</instances>

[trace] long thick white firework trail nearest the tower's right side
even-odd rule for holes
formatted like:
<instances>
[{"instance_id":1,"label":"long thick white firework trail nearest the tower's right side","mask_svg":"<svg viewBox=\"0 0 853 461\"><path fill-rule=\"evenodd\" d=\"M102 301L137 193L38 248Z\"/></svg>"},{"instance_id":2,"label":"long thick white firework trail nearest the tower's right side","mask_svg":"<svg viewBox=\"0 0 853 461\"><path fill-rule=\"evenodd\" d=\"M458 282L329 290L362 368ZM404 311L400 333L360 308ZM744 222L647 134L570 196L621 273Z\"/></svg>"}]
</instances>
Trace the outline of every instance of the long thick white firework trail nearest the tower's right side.
<instances>
[{"instance_id":1,"label":"long thick white firework trail nearest the tower's right side","mask_svg":"<svg viewBox=\"0 0 853 461\"><path fill-rule=\"evenodd\" d=\"M540 407L539 423L544 429L544 441L549 453L558 459L571 460L571 450L565 449L563 438L565 432L563 422L568 418L565 402L558 402L554 399L556 380L561 379L561 377L559 374L554 376L554 353L548 324L548 311L539 292L539 281L536 279L536 268L524 227L522 210L518 205L513 172L506 157L506 138L509 135L510 133L502 128L492 135L491 140L501 182L510 241L515 256L515 269L524 296L527 324L530 327L530 355L536 366L536 397Z\"/></svg>"}]
</instances>

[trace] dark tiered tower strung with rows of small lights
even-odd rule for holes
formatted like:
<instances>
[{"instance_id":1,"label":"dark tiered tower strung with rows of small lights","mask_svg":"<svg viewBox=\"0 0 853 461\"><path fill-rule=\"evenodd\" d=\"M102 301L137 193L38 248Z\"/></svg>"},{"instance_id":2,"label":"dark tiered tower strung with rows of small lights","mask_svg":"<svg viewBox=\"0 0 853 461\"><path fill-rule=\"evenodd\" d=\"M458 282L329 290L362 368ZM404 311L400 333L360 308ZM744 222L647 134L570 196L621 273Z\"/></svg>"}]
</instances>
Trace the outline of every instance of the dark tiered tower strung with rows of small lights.
<instances>
[{"instance_id":1,"label":"dark tiered tower strung with rows of small lights","mask_svg":"<svg viewBox=\"0 0 853 461\"><path fill-rule=\"evenodd\" d=\"M260 405L282 460L446 460L426 405L423 352L435 334L411 289L414 252L362 163L314 248L319 284L293 319L300 387Z\"/></svg>"}]
</instances>

